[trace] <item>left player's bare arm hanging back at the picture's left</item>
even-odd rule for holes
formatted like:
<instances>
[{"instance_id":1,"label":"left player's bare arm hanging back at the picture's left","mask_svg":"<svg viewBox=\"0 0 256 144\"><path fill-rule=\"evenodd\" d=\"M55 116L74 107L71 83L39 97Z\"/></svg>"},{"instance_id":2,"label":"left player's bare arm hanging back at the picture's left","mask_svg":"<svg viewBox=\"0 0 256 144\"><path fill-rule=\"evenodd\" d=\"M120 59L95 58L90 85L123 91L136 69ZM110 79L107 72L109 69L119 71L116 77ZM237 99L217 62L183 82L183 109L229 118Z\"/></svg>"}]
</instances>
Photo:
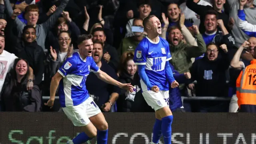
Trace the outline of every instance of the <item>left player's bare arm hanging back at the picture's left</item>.
<instances>
[{"instance_id":1,"label":"left player's bare arm hanging back at the picture's left","mask_svg":"<svg viewBox=\"0 0 256 144\"><path fill-rule=\"evenodd\" d=\"M52 108L54 99L55 99L56 90L62 78L63 76L59 72L56 72L56 74L52 77L52 81L50 84L50 99L48 100L47 103L44 103L44 105L50 106L50 108Z\"/></svg>"}]
</instances>

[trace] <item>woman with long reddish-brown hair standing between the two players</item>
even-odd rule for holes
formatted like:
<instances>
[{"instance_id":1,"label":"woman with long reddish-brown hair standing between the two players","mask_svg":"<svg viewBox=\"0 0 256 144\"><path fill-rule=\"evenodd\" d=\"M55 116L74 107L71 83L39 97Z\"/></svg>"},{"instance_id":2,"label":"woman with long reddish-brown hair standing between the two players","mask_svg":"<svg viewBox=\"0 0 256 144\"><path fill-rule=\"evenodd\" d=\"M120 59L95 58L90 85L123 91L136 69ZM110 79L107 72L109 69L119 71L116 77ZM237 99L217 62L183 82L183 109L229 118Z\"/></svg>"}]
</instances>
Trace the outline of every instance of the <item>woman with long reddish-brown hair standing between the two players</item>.
<instances>
[{"instance_id":1,"label":"woman with long reddish-brown hair standing between the two players","mask_svg":"<svg viewBox=\"0 0 256 144\"><path fill-rule=\"evenodd\" d=\"M134 52L124 52L120 59L119 81L131 83L134 86L134 92L121 90L117 100L117 110L118 112L154 112L142 96L140 77L133 58Z\"/></svg>"}]
</instances>

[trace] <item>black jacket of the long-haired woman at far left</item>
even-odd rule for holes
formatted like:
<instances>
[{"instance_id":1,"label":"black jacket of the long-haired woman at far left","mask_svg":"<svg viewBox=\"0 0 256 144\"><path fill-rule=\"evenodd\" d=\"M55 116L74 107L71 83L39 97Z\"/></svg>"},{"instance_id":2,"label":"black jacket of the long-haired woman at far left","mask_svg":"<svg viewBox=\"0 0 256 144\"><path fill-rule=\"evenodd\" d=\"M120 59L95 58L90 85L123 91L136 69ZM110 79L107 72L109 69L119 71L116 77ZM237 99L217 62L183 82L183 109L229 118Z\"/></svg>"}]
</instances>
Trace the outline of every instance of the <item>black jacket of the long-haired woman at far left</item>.
<instances>
[{"instance_id":1,"label":"black jacket of the long-haired woman at far left","mask_svg":"<svg viewBox=\"0 0 256 144\"><path fill-rule=\"evenodd\" d=\"M38 86L26 90L26 78L17 86L11 86L11 74L6 75L4 86L0 95L1 111L7 112L40 112L42 96Z\"/></svg>"}]
</instances>

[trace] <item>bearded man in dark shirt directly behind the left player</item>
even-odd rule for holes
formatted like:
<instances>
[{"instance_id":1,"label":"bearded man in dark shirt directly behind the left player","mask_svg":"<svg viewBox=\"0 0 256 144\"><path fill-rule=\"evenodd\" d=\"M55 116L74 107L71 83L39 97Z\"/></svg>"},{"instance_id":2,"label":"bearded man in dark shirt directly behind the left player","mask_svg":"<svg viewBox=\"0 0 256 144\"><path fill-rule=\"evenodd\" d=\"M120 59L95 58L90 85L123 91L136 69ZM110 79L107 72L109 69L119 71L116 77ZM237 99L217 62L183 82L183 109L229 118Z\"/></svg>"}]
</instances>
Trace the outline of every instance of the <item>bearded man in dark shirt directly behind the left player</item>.
<instances>
[{"instance_id":1,"label":"bearded man in dark shirt directly behind the left player","mask_svg":"<svg viewBox=\"0 0 256 144\"><path fill-rule=\"evenodd\" d=\"M93 43L92 58L97 64L98 68L106 72L109 76L118 79L115 70L111 68L105 61L101 61L103 56L103 44L96 40ZM119 96L119 88L117 86L108 84L97 78L92 72L88 75L86 80L86 88L94 102L103 112L109 112L112 105L116 102Z\"/></svg>"}]
</instances>

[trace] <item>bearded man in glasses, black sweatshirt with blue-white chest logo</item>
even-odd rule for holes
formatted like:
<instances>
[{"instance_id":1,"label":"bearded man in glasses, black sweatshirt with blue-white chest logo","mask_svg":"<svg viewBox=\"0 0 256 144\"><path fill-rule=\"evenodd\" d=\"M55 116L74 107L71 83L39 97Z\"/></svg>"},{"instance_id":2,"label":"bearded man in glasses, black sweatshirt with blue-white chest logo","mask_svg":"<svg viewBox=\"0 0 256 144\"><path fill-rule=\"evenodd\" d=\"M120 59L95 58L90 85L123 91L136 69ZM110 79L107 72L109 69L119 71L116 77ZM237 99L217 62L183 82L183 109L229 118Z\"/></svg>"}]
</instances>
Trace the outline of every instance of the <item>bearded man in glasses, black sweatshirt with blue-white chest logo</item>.
<instances>
[{"instance_id":1,"label":"bearded man in glasses, black sweatshirt with blue-white chest logo","mask_svg":"<svg viewBox=\"0 0 256 144\"><path fill-rule=\"evenodd\" d=\"M228 53L227 46L224 44L220 48ZM219 56L220 48L217 44L211 42L207 45L206 56L196 60L190 68L191 90L196 90L196 96L219 96L228 95L228 85L226 84L226 70L229 67L228 56L222 54ZM224 102L196 102L197 112L227 112L228 106ZM226 105L226 106L225 106Z\"/></svg>"}]
</instances>

